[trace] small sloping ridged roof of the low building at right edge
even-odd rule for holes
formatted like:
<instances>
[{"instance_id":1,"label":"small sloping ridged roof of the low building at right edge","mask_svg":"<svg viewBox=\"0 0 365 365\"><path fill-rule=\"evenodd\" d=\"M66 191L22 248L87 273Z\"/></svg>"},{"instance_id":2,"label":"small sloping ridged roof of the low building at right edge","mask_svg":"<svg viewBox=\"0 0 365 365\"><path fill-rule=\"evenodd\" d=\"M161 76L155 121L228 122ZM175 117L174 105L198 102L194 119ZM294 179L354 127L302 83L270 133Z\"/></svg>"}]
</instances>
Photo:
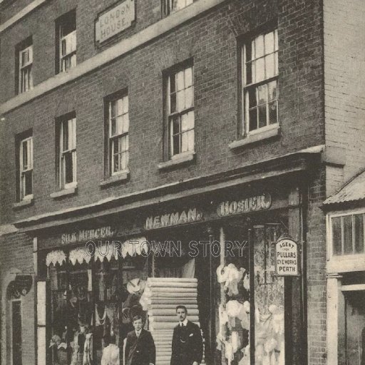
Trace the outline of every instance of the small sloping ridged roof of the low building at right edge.
<instances>
[{"instance_id":1,"label":"small sloping ridged roof of the low building at right edge","mask_svg":"<svg viewBox=\"0 0 365 365\"><path fill-rule=\"evenodd\" d=\"M324 201L324 207L365 202L365 170L351 178L340 190Z\"/></svg>"}]
</instances>

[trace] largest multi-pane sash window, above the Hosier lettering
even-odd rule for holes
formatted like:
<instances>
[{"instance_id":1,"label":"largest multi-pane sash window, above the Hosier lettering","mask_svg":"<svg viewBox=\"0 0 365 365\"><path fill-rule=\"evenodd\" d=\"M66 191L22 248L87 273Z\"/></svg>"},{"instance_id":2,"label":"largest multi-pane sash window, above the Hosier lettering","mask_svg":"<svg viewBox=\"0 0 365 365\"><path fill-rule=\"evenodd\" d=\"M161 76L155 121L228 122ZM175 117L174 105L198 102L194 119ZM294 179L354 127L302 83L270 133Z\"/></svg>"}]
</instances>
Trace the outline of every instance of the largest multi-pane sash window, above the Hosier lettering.
<instances>
[{"instance_id":1,"label":"largest multi-pane sash window, above the Hosier lettering","mask_svg":"<svg viewBox=\"0 0 365 365\"><path fill-rule=\"evenodd\" d=\"M278 121L278 48L277 30L256 36L242 48L246 135L268 129Z\"/></svg>"}]
</instances>

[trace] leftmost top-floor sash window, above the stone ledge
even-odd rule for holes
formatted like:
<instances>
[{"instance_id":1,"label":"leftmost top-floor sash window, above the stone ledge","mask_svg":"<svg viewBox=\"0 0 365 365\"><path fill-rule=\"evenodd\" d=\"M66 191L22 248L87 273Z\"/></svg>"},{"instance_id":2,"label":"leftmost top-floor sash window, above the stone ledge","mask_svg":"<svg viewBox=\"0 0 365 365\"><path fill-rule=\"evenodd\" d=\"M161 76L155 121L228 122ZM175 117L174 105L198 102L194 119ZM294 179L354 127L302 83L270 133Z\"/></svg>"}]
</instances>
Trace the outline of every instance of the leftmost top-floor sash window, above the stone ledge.
<instances>
[{"instance_id":1,"label":"leftmost top-floor sash window, above the stone ledge","mask_svg":"<svg viewBox=\"0 0 365 365\"><path fill-rule=\"evenodd\" d=\"M33 41L29 37L16 47L16 91L25 93L33 88Z\"/></svg>"}]
</instances>

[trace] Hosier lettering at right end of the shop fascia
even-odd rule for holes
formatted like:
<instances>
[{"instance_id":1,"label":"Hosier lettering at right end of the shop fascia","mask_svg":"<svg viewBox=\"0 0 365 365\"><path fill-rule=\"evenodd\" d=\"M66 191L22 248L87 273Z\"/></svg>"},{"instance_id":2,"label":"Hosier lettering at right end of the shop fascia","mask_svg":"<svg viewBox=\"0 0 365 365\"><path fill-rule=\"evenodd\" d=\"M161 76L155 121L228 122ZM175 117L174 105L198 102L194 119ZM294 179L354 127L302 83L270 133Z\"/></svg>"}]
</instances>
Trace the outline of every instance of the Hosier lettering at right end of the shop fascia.
<instances>
[{"instance_id":1,"label":"Hosier lettering at right end of the shop fascia","mask_svg":"<svg viewBox=\"0 0 365 365\"><path fill-rule=\"evenodd\" d=\"M221 202L217 207L217 215L219 217L227 217L227 215L267 210L271 206L271 202L271 195L269 194L247 197L242 200Z\"/></svg>"}]
</instances>

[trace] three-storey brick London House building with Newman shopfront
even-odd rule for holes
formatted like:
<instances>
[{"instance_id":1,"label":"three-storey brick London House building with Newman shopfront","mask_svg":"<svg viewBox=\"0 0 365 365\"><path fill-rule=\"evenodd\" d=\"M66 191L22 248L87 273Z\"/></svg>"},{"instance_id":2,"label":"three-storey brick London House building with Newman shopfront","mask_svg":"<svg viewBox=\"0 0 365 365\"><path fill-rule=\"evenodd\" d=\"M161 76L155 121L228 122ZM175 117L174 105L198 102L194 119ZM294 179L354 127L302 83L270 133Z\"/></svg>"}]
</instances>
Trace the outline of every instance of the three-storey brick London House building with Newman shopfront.
<instances>
[{"instance_id":1,"label":"three-storey brick London House building with Newman shopfront","mask_svg":"<svg viewBox=\"0 0 365 365\"><path fill-rule=\"evenodd\" d=\"M206 364L331 364L322 205L365 165L363 1L0 3L1 361L82 364L82 339L100 364L130 329L126 284L160 277L150 305L185 301ZM282 235L299 276L274 275ZM192 250L207 240L219 255Z\"/></svg>"}]
</instances>

